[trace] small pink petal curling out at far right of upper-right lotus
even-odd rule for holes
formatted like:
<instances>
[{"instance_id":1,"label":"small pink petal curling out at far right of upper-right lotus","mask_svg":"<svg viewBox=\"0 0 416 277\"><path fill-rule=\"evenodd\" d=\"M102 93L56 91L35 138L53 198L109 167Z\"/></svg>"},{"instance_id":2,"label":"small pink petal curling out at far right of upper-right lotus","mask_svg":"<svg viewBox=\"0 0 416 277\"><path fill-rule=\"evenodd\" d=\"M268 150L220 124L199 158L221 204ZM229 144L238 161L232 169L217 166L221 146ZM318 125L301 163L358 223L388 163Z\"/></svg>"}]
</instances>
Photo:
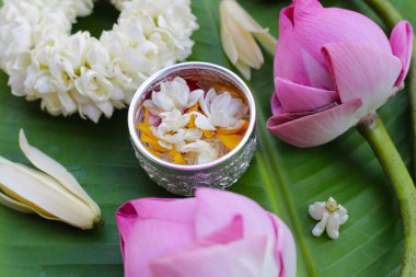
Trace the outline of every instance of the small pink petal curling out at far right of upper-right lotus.
<instances>
[{"instance_id":1,"label":"small pink petal curling out at far right of upper-right lotus","mask_svg":"<svg viewBox=\"0 0 416 277\"><path fill-rule=\"evenodd\" d=\"M408 68L411 67L412 50L413 50L413 28L412 24L407 21L401 21L393 28L390 37L393 54L402 61L402 72L395 83L395 86L402 86L406 78Z\"/></svg>"}]
</instances>

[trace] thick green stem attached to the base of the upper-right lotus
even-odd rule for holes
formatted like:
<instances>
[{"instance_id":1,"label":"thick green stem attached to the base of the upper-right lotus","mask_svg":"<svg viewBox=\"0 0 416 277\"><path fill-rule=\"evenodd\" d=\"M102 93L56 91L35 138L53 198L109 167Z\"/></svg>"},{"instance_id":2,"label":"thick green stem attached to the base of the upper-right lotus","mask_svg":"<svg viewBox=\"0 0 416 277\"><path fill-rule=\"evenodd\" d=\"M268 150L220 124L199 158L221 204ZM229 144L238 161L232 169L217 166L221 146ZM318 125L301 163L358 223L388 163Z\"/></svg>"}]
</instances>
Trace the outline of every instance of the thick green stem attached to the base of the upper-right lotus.
<instances>
[{"instance_id":1,"label":"thick green stem attached to the base of the upper-right lotus","mask_svg":"<svg viewBox=\"0 0 416 277\"><path fill-rule=\"evenodd\" d=\"M402 277L416 276L416 188L406 165L377 114L357 126L370 143L397 196L404 226Z\"/></svg>"}]
</instances>

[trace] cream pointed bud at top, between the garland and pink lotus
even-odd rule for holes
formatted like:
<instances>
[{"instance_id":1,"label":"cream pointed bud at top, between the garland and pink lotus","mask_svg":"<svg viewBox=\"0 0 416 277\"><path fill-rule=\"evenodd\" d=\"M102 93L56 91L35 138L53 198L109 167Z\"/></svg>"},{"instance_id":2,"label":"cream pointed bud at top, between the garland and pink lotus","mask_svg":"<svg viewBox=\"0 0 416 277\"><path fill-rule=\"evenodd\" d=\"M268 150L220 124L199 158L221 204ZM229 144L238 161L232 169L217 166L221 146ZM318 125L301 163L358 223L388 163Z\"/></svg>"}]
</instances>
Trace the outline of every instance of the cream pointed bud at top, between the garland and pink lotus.
<instances>
[{"instance_id":1,"label":"cream pointed bud at top, between the garland and pink lotus","mask_svg":"<svg viewBox=\"0 0 416 277\"><path fill-rule=\"evenodd\" d=\"M222 47L231 62L246 78L251 79L251 68L259 69L264 58L253 35L270 53L275 51L276 39L268 34L235 0L220 3L220 27Z\"/></svg>"}]
</instances>

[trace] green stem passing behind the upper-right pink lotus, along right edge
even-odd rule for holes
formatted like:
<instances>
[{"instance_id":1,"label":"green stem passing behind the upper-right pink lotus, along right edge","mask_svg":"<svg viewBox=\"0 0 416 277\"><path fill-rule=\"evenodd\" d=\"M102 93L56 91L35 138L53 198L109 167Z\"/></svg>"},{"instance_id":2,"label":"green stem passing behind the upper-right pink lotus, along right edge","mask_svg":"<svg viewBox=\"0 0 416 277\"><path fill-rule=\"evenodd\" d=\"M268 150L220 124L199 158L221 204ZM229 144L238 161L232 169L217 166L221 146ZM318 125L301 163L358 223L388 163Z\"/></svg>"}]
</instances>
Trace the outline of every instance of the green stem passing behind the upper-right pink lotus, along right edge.
<instances>
[{"instance_id":1,"label":"green stem passing behind the upper-right pink lotus, along right edge","mask_svg":"<svg viewBox=\"0 0 416 277\"><path fill-rule=\"evenodd\" d=\"M403 15L389 0L363 0L388 25L393 28ZM416 174L416 42L413 46L411 71L408 73L407 99L411 108L413 138L413 174Z\"/></svg>"}]
</instances>

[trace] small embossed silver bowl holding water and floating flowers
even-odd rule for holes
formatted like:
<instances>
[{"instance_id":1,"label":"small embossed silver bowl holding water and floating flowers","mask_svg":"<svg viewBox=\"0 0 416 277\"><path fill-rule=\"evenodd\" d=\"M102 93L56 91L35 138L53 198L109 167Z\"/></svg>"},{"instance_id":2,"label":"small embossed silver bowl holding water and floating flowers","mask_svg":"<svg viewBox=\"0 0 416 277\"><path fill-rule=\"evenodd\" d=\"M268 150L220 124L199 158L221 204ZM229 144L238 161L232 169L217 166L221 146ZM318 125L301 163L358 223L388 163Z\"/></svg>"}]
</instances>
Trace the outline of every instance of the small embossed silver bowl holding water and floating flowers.
<instances>
[{"instance_id":1,"label":"small embossed silver bowl holding water and floating flowers","mask_svg":"<svg viewBox=\"0 0 416 277\"><path fill-rule=\"evenodd\" d=\"M221 83L238 90L245 96L250 107L250 125L239 146L210 163L200 165L181 165L166 162L150 153L141 143L140 131L136 129L136 116L142 102L160 83L182 77L197 81L198 84ZM247 170L256 149L256 108L247 85L232 71L208 62L183 62L151 76L136 92L129 111L128 128L130 139L141 166L149 176L169 192L192 196L197 187L227 188L234 184Z\"/></svg>"}]
</instances>

